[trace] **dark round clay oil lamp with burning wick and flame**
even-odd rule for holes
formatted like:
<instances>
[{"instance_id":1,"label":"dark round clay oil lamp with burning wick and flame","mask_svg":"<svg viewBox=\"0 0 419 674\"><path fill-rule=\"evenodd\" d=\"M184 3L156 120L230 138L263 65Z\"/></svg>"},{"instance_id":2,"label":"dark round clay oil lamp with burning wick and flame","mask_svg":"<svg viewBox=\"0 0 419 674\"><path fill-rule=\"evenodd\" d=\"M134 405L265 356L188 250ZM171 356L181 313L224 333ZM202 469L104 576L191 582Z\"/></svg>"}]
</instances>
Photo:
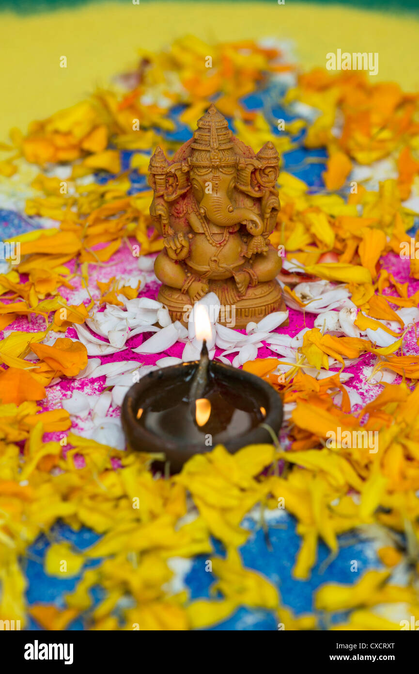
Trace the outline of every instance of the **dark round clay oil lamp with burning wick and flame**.
<instances>
[{"instance_id":1,"label":"dark round clay oil lamp with burning wick and flame","mask_svg":"<svg viewBox=\"0 0 419 674\"><path fill-rule=\"evenodd\" d=\"M195 330L203 340L199 361L148 373L129 389L122 407L129 448L164 454L172 472L220 443L232 453L271 443L282 422L280 396L267 382L209 360L210 319L205 307L197 309Z\"/></svg>"}]
</instances>

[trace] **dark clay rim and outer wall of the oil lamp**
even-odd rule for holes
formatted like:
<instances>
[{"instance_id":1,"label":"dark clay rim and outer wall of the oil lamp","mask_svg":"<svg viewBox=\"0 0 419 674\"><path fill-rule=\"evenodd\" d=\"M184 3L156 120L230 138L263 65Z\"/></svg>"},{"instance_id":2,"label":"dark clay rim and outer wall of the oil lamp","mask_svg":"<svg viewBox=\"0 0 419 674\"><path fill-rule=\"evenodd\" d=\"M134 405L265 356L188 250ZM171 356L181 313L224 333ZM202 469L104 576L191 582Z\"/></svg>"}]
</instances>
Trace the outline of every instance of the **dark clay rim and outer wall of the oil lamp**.
<instances>
[{"instance_id":1,"label":"dark clay rim and outer wall of the oil lamp","mask_svg":"<svg viewBox=\"0 0 419 674\"><path fill-rule=\"evenodd\" d=\"M129 449L138 452L164 453L166 461L170 462L171 472L179 472L185 461L191 458L193 454L210 452L214 447L205 447L203 443L187 443L187 441L180 443L176 440L162 439L138 423L137 410L146 404L150 389L154 389L156 386L164 386L164 384L173 384L176 380L185 381L185 378L193 376L198 364L199 361L192 361L154 370L141 377L137 384L131 386L123 400L121 421ZM264 425L271 427L277 435L282 424L282 402L273 386L256 375L231 365L224 365L224 363L211 362L210 371L216 373L217 379L220 379L227 386L231 386L233 396L234 388L247 382L252 387L257 404L266 410L265 419L259 426L250 429L243 435L236 435L236 437L225 441L223 444L226 449L234 454L247 445L271 444L271 433Z\"/></svg>"}]
</instances>

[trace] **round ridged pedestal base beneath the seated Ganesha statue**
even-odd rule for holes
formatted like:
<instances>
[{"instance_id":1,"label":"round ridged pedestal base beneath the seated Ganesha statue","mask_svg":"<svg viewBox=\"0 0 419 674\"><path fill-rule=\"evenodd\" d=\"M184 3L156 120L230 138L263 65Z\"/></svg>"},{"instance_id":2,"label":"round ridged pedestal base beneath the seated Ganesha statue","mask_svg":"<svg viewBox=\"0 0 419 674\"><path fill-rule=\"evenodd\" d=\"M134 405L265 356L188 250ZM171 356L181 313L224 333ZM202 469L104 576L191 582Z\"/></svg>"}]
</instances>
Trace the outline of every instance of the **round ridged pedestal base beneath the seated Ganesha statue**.
<instances>
[{"instance_id":1,"label":"round ridged pedestal base beneath the seated Ganesha statue","mask_svg":"<svg viewBox=\"0 0 419 674\"><path fill-rule=\"evenodd\" d=\"M236 284L232 279L210 280L208 284L209 292L216 293L220 300L218 322L223 326L245 328L251 321L257 323L273 311L286 311L281 286L276 280L249 286L244 295L238 295ZM187 325L193 306L189 295L163 285L158 293L158 301L166 305L172 321L181 321L183 325ZM282 325L288 326L288 318Z\"/></svg>"}]
</instances>

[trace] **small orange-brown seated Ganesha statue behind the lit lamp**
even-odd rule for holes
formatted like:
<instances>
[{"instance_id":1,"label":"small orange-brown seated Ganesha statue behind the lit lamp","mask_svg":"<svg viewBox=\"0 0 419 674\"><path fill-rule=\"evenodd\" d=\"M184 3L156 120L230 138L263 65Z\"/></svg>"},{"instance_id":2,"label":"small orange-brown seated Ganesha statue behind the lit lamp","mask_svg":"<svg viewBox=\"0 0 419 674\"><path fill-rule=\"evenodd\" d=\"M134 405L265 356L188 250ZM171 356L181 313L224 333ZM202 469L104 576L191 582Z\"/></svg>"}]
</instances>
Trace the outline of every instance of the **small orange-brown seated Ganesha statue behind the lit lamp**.
<instances>
[{"instance_id":1,"label":"small orange-brown seated Ganesha statue behind the lit lamp","mask_svg":"<svg viewBox=\"0 0 419 674\"><path fill-rule=\"evenodd\" d=\"M280 209L273 144L255 154L211 105L172 161L156 148L149 172L150 214L164 240L154 264L158 299L172 319L184 321L187 307L210 292L234 307L238 328L284 310L282 260L269 243Z\"/></svg>"}]
</instances>

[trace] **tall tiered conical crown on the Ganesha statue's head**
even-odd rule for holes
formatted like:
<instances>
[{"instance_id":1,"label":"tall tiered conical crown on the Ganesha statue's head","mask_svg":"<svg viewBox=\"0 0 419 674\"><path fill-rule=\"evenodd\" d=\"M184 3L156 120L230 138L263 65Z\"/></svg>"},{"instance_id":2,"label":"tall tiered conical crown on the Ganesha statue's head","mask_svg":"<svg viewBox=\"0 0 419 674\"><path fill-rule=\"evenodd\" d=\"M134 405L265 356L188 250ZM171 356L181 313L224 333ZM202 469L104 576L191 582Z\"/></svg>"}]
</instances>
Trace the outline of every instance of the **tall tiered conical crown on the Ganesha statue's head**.
<instances>
[{"instance_id":1,"label":"tall tiered conical crown on the Ganesha statue's head","mask_svg":"<svg viewBox=\"0 0 419 674\"><path fill-rule=\"evenodd\" d=\"M211 104L205 115L198 119L197 130L193 133L191 144L191 164L207 166L236 164L237 156L232 144L232 132L228 122Z\"/></svg>"}]
</instances>

